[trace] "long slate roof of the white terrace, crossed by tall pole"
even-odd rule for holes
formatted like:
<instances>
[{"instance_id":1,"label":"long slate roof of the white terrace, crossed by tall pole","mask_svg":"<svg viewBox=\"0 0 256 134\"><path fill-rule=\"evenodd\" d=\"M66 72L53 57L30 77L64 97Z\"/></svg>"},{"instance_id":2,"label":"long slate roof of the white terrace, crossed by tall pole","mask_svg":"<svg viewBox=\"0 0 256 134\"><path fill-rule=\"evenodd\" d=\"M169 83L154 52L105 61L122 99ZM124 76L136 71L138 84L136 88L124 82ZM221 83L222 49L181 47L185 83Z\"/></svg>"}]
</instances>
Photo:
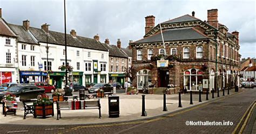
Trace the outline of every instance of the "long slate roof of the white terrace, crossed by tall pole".
<instances>
[{"instance_id":1,"label":"long slate roof of the white terrace, crossed by tall pole","mask_svg":"<svg viewBox=\"0 0 256 134\"><path fill-rule=\"evenodd\" d=\"M42 29L30 27L30 31L39 42L46 43L46 32ZM107 49L95 39L80 37L73 38L71 34L66 34L67 46L87 48L91 50L107 51ZM49 31L48 43L65 45L65 34L55 31Z\"/></svg>"}]
</instances>

